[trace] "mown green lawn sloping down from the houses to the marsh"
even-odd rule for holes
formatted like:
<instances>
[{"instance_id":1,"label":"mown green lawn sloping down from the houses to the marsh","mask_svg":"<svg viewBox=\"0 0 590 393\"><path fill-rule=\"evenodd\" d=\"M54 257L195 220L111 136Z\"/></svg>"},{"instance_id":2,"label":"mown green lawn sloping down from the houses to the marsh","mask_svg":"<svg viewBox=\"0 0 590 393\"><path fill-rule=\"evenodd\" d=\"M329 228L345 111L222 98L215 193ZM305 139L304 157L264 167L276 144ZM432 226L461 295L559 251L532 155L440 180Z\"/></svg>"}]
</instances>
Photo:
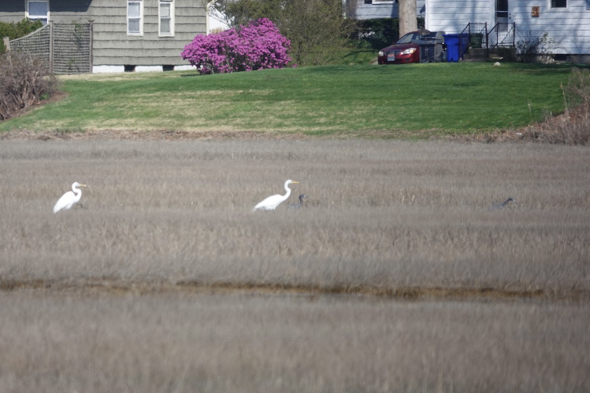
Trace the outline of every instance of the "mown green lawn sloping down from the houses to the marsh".
<instances>
[{"instance_id":1,"label":"mown green lawn sloping down from the houses to the marsh","mask_svg":"<svg viewBox=\"0 0 590 393\"><path fill-rule=\"evenodd\" d=\"M571 69L440 63L64 77L67 98L0 123L0 131L471 133L562 112L560 83L567 84Z\"/></svg>"}]
</instances>

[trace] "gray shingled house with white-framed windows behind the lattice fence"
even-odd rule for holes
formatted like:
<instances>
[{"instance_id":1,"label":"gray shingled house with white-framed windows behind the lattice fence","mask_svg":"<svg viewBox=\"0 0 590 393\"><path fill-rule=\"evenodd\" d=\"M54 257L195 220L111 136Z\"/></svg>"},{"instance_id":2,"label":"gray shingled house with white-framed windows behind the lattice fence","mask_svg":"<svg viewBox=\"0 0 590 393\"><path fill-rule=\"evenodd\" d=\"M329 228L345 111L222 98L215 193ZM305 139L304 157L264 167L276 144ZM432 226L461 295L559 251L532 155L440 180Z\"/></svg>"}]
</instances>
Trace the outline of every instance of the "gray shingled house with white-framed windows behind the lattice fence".
<instances>
[{"instance_id":1,"label":"gray shingled house with white-framed windows behind the lattice fence","mask_svg":"<svg viewBox=\"0 0 590 393\"><path fill-rule=\"evenodd\" d=\"M86 72L172 70L188 67L182 50L208 31L207 5L207 0L0 0L0 22L41 19L52 32L51 48L58 36L51 25L73 25L76 31L88 26ZM71 37L65 41L75 43L82 35Z\"/></svg>"}]
</instances>

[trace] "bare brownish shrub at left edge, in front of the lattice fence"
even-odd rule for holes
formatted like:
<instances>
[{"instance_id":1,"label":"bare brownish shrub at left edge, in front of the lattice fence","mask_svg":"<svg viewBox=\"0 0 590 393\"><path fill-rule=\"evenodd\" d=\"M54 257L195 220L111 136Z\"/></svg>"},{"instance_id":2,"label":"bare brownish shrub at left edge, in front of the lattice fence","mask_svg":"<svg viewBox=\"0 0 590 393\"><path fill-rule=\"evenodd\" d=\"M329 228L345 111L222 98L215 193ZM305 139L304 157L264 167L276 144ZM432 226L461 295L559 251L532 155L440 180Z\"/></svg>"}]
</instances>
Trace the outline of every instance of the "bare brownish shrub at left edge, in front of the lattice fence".
<instances>
[{"instance_id":1,"label":"bare brownish shrub at left edge, in front of the lattice fence","mask_svg":"<svg viewBox=\"0 0 590 393\"><path fill-rule=\"evenodd\" d=\"M57 92L57 78L44 60L22 52L0 57L0 120Z\"/></svg>"}]
</instances>

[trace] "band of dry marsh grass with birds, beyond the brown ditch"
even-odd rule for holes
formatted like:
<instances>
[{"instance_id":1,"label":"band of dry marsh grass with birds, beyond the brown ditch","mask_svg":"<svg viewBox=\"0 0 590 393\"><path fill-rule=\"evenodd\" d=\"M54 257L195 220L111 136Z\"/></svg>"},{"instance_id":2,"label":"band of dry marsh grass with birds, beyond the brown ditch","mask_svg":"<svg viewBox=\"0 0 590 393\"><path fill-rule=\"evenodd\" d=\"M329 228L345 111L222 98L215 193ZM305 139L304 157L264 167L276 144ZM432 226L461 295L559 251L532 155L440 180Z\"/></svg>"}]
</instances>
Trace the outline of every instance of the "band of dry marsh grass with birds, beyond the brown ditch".
<instances>
[{"instance_id":1,"label":"band of dry marsh grass with birds, beyond the brown ditch","mask_svg":"<svg viewBox=\"0 0 590 393\"><path fill-rule=\"evenodd\" d=\"M585 148L6 141L0 158L5 281L590 291ZM250 213L286 179L306 209ZM83 207L53 214L73 181Z\"/></svg>"}]
</instances>

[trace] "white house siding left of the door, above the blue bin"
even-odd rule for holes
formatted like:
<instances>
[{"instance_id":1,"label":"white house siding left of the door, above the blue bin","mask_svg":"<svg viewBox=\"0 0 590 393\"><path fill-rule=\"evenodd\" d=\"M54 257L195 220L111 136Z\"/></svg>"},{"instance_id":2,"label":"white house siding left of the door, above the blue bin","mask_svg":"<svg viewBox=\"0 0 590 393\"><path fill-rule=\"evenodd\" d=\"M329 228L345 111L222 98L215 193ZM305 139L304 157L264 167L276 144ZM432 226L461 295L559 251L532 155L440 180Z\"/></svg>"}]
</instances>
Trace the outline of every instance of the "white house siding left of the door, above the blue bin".
<instances>
[{"instance_id":1,"label":"white house siding left of the door, above the blue bin","mask_svg":"<svg viewBox=\"0 0 590 393\"><path fill-rule=\"evenodd\" d=\"M487 22L493 27L494 9L491 1L426 0L425 28L455 34L463 31L470 22Z\"/></svg>"}]
</instances>

